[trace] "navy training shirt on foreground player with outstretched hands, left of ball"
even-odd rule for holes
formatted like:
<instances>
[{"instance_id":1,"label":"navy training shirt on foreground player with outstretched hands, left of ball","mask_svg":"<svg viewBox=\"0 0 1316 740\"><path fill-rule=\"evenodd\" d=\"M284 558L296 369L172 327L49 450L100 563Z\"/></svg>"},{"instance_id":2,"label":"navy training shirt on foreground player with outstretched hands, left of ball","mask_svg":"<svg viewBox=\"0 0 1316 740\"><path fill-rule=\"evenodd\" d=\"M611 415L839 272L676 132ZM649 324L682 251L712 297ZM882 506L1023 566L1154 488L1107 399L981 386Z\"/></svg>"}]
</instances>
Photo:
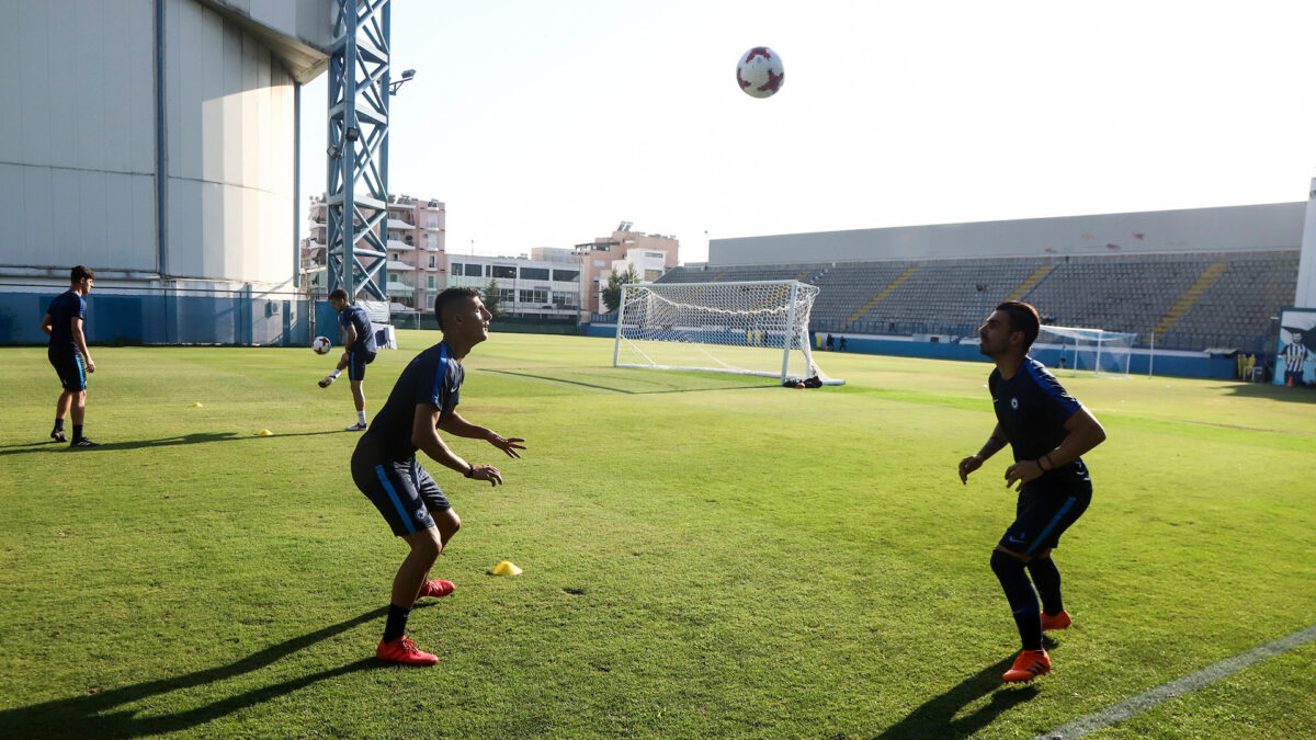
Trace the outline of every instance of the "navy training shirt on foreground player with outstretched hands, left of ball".
<instances>
[{"instance_id":1,"label":"navy training shirt on foreground player with outstretched hands, left of ball","mask_svg":"<svg viewBox=\"0 0 1316 740\"><path fill-rule=\"evenodd\" d=\"M370 421L370 429L361 437L358 450L368 452L375 460L403 461L416 456L411 441L416 406L429 403L441 410L442 424L457 408L466 369L453 357L446 344L417 354L397 377L383 408Z\"/></svg>"}]
</instances>

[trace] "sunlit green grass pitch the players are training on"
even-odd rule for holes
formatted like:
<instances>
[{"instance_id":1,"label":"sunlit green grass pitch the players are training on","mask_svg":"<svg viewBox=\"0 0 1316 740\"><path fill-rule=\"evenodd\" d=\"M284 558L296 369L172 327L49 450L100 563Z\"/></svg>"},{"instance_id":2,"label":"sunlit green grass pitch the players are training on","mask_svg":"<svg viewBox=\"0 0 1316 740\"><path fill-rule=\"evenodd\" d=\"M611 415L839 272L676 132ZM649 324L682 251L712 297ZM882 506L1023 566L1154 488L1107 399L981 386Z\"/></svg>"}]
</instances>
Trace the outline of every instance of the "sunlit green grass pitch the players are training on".
<instances>
[{"instance_id":1,"label":"sunlit green grass pitch the players are training on","mask_svg":"<svg viewBox=\"0 0 1316 740\"><path fill-rule=\"evenodd\" d=\"M401 341L371 413L438 336ZM315 383L336 356L93 357L105 446L70 452L42 444L45 349L0 350L3 737L1030 737L1316 624L1311 392L1062 378L1109 435L1055 554L1075 624L1054 674L1003 687L1009 453L955 475L994 424L990 365L820 353L848 384L788 390L495 333L462 413L529 450L450 441L501 467L492 490L429 465L463 520L434 571L458 590L411 620L440 665L383 666L405 546L351 485L347 384ZM1313 736L1313 661L1092 736Z\"/></svg>"}]
</instances>

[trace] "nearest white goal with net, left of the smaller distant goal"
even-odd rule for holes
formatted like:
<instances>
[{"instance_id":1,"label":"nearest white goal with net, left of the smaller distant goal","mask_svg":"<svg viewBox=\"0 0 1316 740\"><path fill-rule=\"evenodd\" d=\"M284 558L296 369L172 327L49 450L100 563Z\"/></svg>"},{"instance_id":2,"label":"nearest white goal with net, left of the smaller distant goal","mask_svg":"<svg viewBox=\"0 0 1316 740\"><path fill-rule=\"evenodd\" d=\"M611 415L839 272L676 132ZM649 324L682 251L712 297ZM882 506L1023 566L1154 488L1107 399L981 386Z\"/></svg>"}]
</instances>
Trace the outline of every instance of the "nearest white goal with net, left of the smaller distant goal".
<instances>
[{"instance_id":1,"label":"nearest white goal with net, left of the smaller distant goal","mask_svg":"<svg viewBox=\"0 0 1316 740\"><path fill-rule=\"evenodd\" d=\"M819 288L797 280L632 283L617 312L615 367L703 370L824 384L809 352Z\"/></svg>"}]
</instances>

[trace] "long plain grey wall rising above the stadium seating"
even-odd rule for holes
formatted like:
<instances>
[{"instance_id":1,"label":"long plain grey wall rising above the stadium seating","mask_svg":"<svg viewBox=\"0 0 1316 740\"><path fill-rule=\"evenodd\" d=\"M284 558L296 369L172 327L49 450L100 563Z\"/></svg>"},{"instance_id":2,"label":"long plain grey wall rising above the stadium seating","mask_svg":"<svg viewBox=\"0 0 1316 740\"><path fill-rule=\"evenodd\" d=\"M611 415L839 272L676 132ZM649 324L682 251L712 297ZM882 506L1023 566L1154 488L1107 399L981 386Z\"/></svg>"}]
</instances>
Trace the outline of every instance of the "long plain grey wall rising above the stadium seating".
<instances>
[{"instance_id":1,"label":"long plain grey wall rising above the stadium seating","mask_svg":"<svg viewBox=\"0 0 1316 740\"><path fill-rule=\"evenodd\" d=\"M708 266L1296 249L1307 203L713 240Z\"/></svg>"}]
</instances>

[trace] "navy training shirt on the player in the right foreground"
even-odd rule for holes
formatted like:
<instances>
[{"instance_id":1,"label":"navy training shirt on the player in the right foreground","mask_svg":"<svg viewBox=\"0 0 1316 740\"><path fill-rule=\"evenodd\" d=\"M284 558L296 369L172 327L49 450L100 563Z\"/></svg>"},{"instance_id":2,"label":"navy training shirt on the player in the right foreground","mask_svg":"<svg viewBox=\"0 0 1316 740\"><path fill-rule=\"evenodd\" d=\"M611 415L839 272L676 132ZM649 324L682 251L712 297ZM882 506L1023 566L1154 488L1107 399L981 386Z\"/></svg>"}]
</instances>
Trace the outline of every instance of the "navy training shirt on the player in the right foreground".
<instances>
[{"instance_id":1,"label":"navy training shirt on the player in the right foreground","mask_svg":"<svg viewBox=\"0 0 1316 740\"><path fill-rule=\"evenodd\" d=\"M987 387L996 420L1015 450L1015 462L1037 460L1059 446L1069 436L1065 423L1083 407L1055 375L1032 357L1024 357L1024 363L1008 381L1000 377L1000 370L992 370ZM1078 470L1086 471L1082 458L1062 467L1074 467L1075 463Z\"/></svg>"}]
</instances>

